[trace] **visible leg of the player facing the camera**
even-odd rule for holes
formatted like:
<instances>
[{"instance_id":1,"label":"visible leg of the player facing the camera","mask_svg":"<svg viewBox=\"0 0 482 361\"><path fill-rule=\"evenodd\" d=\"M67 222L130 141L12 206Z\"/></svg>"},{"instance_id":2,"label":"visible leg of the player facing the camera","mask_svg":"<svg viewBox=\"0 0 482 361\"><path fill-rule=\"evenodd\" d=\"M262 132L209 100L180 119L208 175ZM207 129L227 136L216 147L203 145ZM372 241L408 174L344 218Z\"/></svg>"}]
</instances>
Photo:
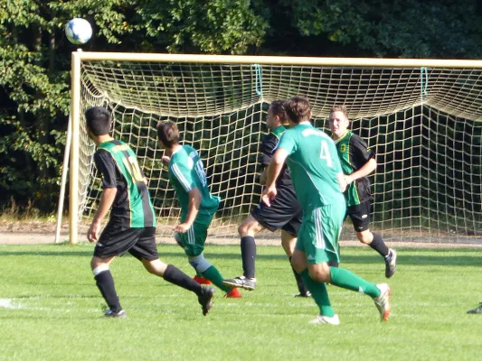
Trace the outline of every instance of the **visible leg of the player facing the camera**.
<instances>
[{"instance_id":1,"label":"visible leg of the player facing the camera","mask_svg":"<svg viewBox=\"0 0 482 361\"><path fill-rule=\"evenodd\" d=\"M370 202L365 201L357 206L349 207L348 215L352 219L358 240L364 245L370 245L379 255L383 256L385 277L392 277L396 271L397 253L385 245L382 236L370 231Z\"/></svg>"}]
</instances>

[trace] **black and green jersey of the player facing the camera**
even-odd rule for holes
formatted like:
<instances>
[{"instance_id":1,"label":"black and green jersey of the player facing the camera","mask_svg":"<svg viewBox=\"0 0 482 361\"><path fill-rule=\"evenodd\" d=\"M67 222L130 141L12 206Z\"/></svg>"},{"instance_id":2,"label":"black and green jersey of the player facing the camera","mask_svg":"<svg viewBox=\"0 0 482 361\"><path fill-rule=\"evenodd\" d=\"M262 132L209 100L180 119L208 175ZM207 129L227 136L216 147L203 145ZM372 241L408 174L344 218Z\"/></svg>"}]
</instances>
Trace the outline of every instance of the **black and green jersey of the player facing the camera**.
<instances>
[{"instance_id":1,"label":"black and green jersey of the player facing the camera","mask_svg":"<svg viewBox=\"0 0 482 361\"><path fill-rule=\"evenodd\" d=\"M352 174L364 166L364 164L375 157L375 153L368 148L362 138L351 131L335 140L336 151L342 163L342 171ZM370 192L370 180L367 177L354 180L345 190L346 205L348 207L363 203L372 199Z\"/></svg>"}]
</instances>

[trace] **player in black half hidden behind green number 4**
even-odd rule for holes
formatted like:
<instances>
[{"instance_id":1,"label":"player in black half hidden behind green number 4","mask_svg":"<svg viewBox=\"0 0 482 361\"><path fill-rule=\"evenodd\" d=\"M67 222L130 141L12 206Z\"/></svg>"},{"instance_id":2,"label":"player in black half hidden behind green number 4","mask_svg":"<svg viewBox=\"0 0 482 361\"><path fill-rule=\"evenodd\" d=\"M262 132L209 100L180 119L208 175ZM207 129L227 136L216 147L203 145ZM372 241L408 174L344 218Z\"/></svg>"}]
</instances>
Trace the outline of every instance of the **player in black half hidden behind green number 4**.
<instances>
[{"instance_id":1,"label":"player in black half hidden behind green number 4","mask_svg":"<svg viewBox=\"0 0 482 361\"><path fill-rule=\"evenodd\" d=\"M271 160L273 149L276 147L281 134L286 130L283 125L286 124L288 120L283 105L284 101L275 100L268 109L266 125L268 125L269 134L263 139L260 145L260 152L262 153L260 156L260 164L263 166L263 171L260 175L261 185L264 185L266 182L266 168ZM291 255L293 254L297 241L303 211L299 206L287 167L284 167L283 170L280 171L276 185L279 193L271 207L267 207L263 202L260 202L256 208L251 210L250 215L242 221L240 227L238 227L238 232L241 236L243 274L240 277L224 280L224 284L232 287L241 287L245 290L254 290L256 286L256 243L254 236L265 228L271 232L281 228L281 245L286 255L288 255L291 264ZM297 297L309 297L310 294L303 280L301 280L301 277L294 269L293 273L298 284L299 294Z\"/></svg>"}]
</instances>

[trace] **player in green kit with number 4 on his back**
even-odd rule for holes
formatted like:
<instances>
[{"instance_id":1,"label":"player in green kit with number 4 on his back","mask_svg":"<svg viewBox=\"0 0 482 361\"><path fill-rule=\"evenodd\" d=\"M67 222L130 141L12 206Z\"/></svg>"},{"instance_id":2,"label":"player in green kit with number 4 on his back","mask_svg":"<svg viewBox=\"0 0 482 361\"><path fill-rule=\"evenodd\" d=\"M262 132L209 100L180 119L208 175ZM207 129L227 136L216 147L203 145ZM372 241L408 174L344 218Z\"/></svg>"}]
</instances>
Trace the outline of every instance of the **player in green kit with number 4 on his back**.
<instances>
[{"instance_id":1,"label":"player in green kit with number 4 on his back","mask_svg":"<svg viewBox=\"0 0 482 361\"><path fill-rule=\"evenodd\" d=\"M287 162L303 220L292 264L301 274L319 308L319 316L310 323L338 325L340 320L331 307L326 283L373 298L382 320L390 314L390 287L373 284L343 268L330 267L339 262L338 237L345 218L345 179L333 140L309 122L311 106L305 97L291 97L285 103L291 127L281 135L269 162L266 189L262 199L269 206L276 199L276 179Z\"/></svg>"}]
</instances>

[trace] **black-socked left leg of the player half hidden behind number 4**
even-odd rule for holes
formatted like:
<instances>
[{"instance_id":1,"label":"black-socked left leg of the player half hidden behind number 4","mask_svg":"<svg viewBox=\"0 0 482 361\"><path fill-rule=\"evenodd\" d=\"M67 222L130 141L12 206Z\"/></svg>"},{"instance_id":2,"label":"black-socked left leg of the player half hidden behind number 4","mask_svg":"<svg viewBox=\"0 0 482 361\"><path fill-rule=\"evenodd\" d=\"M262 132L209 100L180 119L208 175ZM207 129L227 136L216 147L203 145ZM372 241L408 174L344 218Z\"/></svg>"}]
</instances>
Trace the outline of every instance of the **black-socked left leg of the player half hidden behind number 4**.
<instances>
[{"instance_id":1,"label":"black-socked left leg of the player half hidden behind number 4","mask_svg":"<svg viewBox=\"0 0 482 361\"><path fill-rule=\"evenodd\" d=\"M240 287L252 291L256 286L255 263L256 263L256 242L254 236L260 233L264 227L253 217L253 212L244 218L238 227L241 236L241 260L242 275L232 279L226 279L224 284L230 287Z\"/></svg>"}]
</instances>

